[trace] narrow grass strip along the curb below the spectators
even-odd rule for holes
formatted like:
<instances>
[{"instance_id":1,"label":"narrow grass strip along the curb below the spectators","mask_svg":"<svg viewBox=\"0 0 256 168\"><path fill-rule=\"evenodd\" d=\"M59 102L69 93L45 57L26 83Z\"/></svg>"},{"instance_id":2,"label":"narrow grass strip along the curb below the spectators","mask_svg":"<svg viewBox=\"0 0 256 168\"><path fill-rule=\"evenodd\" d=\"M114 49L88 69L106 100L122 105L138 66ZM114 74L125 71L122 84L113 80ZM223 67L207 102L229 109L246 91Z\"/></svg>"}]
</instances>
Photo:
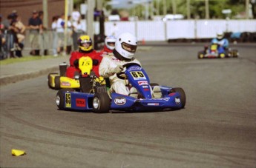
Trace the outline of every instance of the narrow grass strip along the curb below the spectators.
<instances>
[{"instance_id":1,"label":"narrow grass strip along the curb below the spectators","mask_svg":"<svg viewBox=\"0 0 256 168\"><path fill-rule=\"evenodd\" d=\"M0 65L4 64L13 64L17 62L24 62L24 61L35 61L35 60L42 60L47 58L54 58L53 56L24 56L22 58L7 58L0 61Z\"/></svg>"}]
</instances>

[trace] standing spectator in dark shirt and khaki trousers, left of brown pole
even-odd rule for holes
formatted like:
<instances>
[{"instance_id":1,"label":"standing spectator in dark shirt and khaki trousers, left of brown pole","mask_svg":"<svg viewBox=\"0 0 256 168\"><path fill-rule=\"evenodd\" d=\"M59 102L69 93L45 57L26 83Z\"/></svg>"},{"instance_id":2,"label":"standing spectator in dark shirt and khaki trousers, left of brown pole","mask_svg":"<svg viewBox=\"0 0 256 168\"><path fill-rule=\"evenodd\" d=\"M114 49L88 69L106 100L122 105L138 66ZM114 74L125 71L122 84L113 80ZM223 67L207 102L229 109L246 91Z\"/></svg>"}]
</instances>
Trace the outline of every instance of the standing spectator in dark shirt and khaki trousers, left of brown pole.
<instances>
[{"instance_id":1,"label":"standing spectator in dark shirt and khaki trousers, left of brown pole","mask_svg":"<svg viewBox=\"0 0 256 168\"><path fill-rule=\"evenodd\" d=\"M32 49L30 55L39 56L39 33L42 32L42 20L36 10L33 10L32 17L28 20L28 27L30 29L29 40Z\"/></svg>"}]
</instances>

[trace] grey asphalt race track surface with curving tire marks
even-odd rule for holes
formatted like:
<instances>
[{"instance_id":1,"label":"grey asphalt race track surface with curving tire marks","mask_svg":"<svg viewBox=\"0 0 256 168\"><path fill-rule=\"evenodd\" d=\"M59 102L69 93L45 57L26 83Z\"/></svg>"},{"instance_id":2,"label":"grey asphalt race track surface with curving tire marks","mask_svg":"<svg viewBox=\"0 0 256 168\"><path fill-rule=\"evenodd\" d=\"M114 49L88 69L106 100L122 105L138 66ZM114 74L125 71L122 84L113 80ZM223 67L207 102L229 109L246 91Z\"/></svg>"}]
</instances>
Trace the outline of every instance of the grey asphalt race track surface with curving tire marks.
<instances>
[{"instance_id":1,"label":"grey asphalt race track surface with curving tire marks","mask_svg":"<svg viewBox=\"0 0 256 168\"><path fill-rule=\"evenodd\" d=\"M232 47L239 58L198 60L202 44L138 51L151 82L185 90L183 110L57 110L47 75L0 87L0 167L256 167L256 45Z\"/></svg>"}]
</instances>

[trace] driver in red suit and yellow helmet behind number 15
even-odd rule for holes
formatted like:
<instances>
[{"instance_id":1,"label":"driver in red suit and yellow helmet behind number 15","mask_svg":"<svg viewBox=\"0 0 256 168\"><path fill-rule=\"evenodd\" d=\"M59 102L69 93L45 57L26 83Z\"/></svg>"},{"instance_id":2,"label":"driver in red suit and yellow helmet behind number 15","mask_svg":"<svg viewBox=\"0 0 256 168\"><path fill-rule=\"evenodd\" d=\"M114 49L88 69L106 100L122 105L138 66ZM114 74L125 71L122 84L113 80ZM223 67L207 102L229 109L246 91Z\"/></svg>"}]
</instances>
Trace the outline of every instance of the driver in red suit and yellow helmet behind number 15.
<instances>
[{"instance_id":1,"label":"driver in red suit and yellow helmet behind number 15","mask_svg":"<svg viewBox=\"0 0 256 168\"><path fill-rule=\"evenodd\" d=\"M75 75L79 75L81 70L79 70L79 58L82 56L89 56L93 59L93 72L95 75L99 76L99 63L102 61L102 56L93 50L93 42L90 36L83 35L80 36L78 41L79 51L73 51L70 56L70 67L68 67L66 76L68 78L74 78Z\"/></svg>"}]
</instances>

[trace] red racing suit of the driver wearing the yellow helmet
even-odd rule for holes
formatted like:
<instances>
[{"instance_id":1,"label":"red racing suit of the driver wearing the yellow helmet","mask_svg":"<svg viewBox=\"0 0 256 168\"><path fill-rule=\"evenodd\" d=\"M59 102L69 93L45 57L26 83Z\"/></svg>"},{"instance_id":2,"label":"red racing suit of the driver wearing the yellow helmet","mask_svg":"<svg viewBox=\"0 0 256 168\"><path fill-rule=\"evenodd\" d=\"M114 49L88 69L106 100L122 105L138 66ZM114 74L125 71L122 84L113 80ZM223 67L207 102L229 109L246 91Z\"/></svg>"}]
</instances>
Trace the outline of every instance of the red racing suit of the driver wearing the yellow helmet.
<instances>
[{"instance_id":1,"label":"red racing suit of the driver wearing the yellow helmet","mask_svg":"<svg viewBox=\"0 0 256 168\"><path fill-rule=\"evenodd\" d=\"M91 52L88 53L82 53L79 51L73 51L71 53L69 62L70 62L70 67L68 67L67 72L66 72L66 76L68 78L74 78L75 75L78 75L81 73L81 70L79 70L79 67L77 65L79 58L81 58L82 56L89 56L91 57L93 60L97 60L98 64L93 65L93 72L99 76L99 63L102 61L102 56L100 53L97 53L96 50L91 50Z\"/></svg>"}]
</instances>

